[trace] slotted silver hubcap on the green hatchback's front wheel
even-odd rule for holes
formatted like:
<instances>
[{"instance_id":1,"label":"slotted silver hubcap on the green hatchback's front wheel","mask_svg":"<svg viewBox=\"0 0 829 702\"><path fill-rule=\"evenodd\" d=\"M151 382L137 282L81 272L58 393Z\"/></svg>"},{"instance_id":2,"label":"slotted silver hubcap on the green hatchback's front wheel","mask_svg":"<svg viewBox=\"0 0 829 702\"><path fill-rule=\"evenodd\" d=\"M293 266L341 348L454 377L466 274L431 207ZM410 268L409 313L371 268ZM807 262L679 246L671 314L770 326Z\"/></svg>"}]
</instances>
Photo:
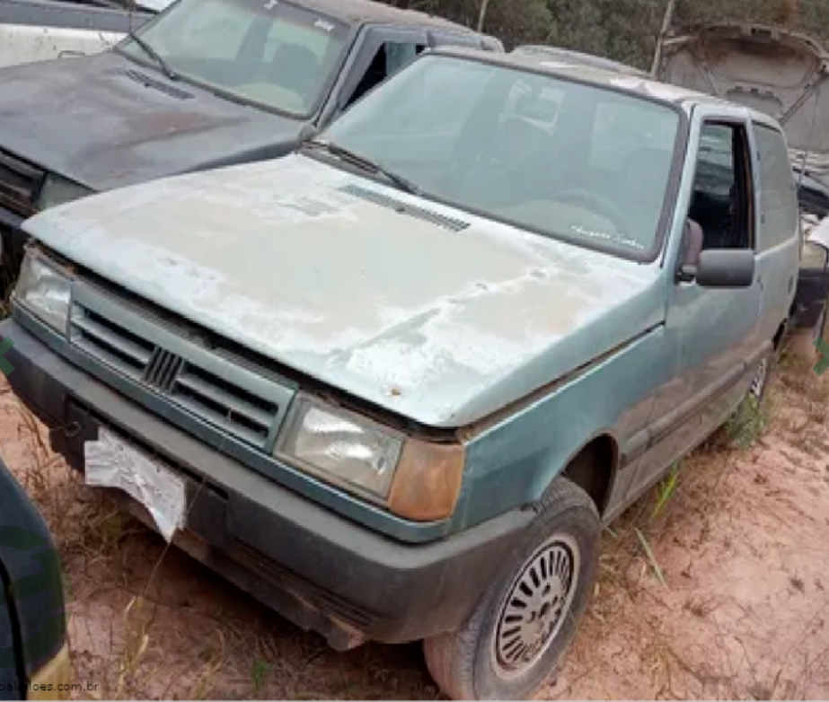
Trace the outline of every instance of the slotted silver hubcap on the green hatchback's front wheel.
<instances>
[{"instance_id":1,"label":"slotted silver hubcap on the green hatchback's front wheel","mask_svg":"<svg viewBox=\"0 0 829 702\"><path fill-rule=\"evenodd\" d=\"M565 534L547 540L516 576L501 604L493 639L493 663L501 677L532 667L566 619L578 585L576 541Z\"/></svg>"}]
</instances>

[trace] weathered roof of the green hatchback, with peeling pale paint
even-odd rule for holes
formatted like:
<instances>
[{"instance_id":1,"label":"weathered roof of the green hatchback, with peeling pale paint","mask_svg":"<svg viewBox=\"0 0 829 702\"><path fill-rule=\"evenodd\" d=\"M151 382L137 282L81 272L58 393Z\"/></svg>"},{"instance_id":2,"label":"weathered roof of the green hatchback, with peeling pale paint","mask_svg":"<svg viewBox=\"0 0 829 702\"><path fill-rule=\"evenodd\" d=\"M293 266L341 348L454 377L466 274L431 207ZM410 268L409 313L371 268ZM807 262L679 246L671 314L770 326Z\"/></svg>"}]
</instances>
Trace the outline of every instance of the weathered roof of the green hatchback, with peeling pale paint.
<instances>
[{"instance_id":1,"label":"weathered roof of the green hatchback, with peeling pale paint","mask_svg":"<svg viewBox=\"0 0 829 702\"><path fill-rule=\"evenodd\" d=\"M735 102L721 100L705 92L695 92L671 83L662 83L653 78L640 77L639 75L621 75L618 71L609 71L596 66L577 65L573 62L566 63L565 61L557 61L553 58L540 60L537 56L528 56L515 52L497 54L475 48L441 47L433 49L431 53L433 55L471 58L482 63L517 68L519 70L523 69L557 78L574 78L584 83L606 86L615 90L631 92L631 94L637 94L652 100L673 104L692 102L698 105L739 107L748 110L752 117L758 121L779 127L777 122L764 112L752 110L751 108L745 107L745 105L738 105Z\"/></svg>"}]
</instances>

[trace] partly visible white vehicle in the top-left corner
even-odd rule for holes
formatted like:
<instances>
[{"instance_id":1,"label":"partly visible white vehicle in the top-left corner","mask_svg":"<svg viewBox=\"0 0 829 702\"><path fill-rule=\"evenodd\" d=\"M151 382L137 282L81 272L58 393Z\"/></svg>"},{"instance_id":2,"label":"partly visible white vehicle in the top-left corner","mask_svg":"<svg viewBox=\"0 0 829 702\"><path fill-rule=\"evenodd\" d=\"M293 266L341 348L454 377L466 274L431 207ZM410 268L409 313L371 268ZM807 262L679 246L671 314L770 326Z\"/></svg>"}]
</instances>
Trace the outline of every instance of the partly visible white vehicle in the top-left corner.
<instances>
[{"instance_id":1,"label":"partly visible white vehicle in the top-left corner","mask_svg":"<svg viewBox=\"0 0 829 702\"><path fill-rule=\"evenodd\" d=\"M59 0L0 0L0 68L96 54L173 0L137 0L135 9Z\"/></svg>"}]
</instances>

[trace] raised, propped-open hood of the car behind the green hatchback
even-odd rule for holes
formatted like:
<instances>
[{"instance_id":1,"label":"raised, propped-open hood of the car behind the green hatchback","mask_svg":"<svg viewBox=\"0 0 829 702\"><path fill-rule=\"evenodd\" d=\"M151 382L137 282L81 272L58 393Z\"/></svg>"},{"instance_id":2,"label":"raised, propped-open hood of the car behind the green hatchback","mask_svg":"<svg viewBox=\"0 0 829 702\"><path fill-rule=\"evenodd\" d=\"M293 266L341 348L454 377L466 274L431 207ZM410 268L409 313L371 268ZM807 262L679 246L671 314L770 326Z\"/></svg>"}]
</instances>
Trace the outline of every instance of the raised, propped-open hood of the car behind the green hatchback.
<instances>
[{"instance_id":1,"label":"raised, propped-open hood of the car behind the green hatchback","mask_svg":"<svg viewBox=\"0 0 829 702\"><path fill-rule=\"evenodd\" d=\"M771 115L792 162L829 175L829 53L812 37L762 24L705 24L666 39L659 78Z\"/></svg>"}]
</instances>

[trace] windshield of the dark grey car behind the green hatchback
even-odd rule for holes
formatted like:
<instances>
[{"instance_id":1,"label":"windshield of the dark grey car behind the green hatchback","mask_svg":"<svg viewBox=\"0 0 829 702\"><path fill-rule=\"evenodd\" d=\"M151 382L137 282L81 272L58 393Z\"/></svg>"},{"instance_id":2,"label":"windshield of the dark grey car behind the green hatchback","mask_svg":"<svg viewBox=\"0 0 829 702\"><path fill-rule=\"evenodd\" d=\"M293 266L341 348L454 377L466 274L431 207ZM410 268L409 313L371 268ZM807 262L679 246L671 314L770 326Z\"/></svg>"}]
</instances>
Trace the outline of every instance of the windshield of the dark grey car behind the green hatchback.
<instances>
[{"instance_id":1,"label":"windshield of the dark grey car behind the green hatchback","mask_svg":"<svg viewBox=\"0 0 829 702\"><path fill-rule=\"evenodd\" d=\"M303 118L340 65L348 25L284 0L180 0L137 33L182 79ZM121 49L152 64L132 39Z\"/></svg>"}]
</instances>

